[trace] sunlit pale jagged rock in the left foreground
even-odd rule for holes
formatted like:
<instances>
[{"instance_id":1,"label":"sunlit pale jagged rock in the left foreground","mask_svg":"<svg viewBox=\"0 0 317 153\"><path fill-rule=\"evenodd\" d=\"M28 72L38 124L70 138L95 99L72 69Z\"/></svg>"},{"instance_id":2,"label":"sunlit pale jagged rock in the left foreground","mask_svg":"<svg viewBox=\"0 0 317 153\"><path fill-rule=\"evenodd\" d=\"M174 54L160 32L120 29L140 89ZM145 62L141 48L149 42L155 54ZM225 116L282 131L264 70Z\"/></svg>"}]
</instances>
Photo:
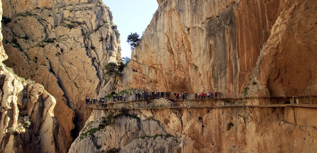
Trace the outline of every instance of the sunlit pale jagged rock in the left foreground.
<instances>
[{"instance_id":1,"label":"sunlit pale jagged rock in the left foreground","mask_svg":"<svg viewBox=\"0 0 317 153\"><path fill-rule=\"evenodd\" d=\"M7 55L1 30L0 25L3 62ZM7 69L10 68L0 65L0 152L67 152L65 136L54 116L55 98L42 85L25 81Z\"/></svg>"}]
</instances>

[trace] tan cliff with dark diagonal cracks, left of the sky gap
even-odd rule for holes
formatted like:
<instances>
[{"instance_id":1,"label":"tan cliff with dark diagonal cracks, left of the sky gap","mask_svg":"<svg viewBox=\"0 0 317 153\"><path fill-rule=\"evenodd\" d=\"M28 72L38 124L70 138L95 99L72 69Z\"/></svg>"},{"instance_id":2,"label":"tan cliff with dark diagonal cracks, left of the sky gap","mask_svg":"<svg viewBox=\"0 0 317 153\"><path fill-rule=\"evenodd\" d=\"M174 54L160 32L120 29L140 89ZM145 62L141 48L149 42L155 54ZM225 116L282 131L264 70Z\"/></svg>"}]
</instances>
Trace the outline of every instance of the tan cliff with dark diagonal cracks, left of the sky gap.
<instances>
[{"instance_id":1,"label":"tan cliff with dark diagonal cracks, left of the sky gap","mask_svg":"<svg viewBox=\"0 0 317 153\"><path fill-rule=\"evenodd\" d=\"M106 83L103 67L120 60L120 34L101 1L3 1L4 63L56 99L68 147L90 114L86 95Z\"/></svg>"}]
</instances>

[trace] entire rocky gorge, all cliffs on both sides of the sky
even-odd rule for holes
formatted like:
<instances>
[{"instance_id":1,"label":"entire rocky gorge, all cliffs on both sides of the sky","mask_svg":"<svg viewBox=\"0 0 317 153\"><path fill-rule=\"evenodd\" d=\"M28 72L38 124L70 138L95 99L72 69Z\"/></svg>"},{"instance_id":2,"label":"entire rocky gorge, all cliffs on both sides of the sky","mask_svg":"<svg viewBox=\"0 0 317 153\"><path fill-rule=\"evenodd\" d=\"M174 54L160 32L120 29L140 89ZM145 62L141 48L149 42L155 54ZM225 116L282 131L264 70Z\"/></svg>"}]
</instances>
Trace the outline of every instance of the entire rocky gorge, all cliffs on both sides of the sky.
<instances>
[{"instance_id":1,"label":"entire rocky gorge, all cliffs on both sides of the sky","mask_svg":"<svg viewBox=\"0 0 317 153\"><path fill-rule=\"evenodd\" d=\"M131 61L110 77L120 31L102 1L2 0L1 152L317 151L314 107L246 107L276 103L256 98L213 101L244 107L129 109L175 103L165 98L85 106L85 97L133 100L137 90L317 95L316 1L157 2Z\"/></svg>"}]
</instances>

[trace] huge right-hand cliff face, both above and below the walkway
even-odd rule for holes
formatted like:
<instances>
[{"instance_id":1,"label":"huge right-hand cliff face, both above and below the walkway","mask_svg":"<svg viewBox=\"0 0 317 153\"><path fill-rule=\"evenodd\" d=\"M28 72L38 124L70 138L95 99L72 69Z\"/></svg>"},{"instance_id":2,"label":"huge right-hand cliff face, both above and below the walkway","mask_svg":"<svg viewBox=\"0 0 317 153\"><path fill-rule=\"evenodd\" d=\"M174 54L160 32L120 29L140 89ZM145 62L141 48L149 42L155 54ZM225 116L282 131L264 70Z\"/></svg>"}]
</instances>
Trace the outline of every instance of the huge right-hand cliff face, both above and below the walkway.
<instances>
[{"instance_id":1,"label":"huge right-hand cliff face, both above and below the walkway","mask_svg":"<svg viewBox=\"0 0 317 153\"><path fill-rule=\"evenodd\" d=\"M288 89L316 85L316 1L158 3L128 68L115 83L117 91L217 90L224 97L241 96L242 91L244 96L289 96ZM104 93L111 90L106 87ZM95 110L69 152L113 148L119 152L317 151L315 109L144 109L129 113L117 114L112 123L109 112Z\"/></svg>"}]
</instances>

